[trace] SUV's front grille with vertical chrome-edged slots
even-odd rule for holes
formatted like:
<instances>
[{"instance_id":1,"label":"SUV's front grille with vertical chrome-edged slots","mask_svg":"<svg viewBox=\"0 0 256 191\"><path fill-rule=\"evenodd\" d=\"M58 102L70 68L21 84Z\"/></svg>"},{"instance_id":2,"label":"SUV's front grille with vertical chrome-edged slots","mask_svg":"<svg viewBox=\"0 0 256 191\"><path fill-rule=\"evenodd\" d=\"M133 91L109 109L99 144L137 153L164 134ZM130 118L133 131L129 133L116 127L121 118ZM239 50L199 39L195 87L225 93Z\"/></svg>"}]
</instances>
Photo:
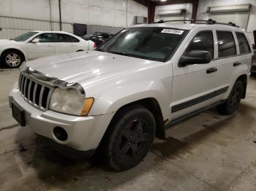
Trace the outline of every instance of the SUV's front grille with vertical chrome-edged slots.
<instances>
[{"instance_id":1,"label":"SUV's front grille with vertical chrome-edged slots","mask_svg":"<svg viewBox=\"0 0 256 191\"><path fill-rule=\"evenodd\" d=\"M48 110L53 87L37 82L23 73L20 73L18 87L21 95L29 104L44 111Z\"/></svg>"}]
</instances>

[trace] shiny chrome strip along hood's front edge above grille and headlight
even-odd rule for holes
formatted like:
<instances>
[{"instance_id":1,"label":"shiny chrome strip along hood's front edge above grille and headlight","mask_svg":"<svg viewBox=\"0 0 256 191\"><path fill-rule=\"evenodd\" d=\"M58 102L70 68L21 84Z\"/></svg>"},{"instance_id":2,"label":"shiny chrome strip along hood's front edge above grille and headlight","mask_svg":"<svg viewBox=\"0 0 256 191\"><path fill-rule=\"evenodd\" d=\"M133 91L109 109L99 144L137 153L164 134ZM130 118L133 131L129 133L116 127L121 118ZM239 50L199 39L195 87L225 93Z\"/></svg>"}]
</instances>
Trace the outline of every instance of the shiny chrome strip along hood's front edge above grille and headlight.
<instances>
[{"instance_id":1,"label":"shiny chrome strip along hood's front edge above grille and headlight","mask_svg":"<svg viewBox=\"0 0 256 191\"><path fill-rule=\"evenodd\" d=\"M60 87L61 89L74 88L78 90L78 93L80 93L84 98L86 98L86 92L83 89L83 86L81 86L76 82L69 83L61 79L58 79L56 77L48 77L47 75L43 74L40 71L36 71L34 69L29 68L29 66L26 66L25 63L23 63L20 66L20 72L22 74L27 74L32 79L36 79L42 84L49 85L51 87Z\"/></svg>"}]
</instances>

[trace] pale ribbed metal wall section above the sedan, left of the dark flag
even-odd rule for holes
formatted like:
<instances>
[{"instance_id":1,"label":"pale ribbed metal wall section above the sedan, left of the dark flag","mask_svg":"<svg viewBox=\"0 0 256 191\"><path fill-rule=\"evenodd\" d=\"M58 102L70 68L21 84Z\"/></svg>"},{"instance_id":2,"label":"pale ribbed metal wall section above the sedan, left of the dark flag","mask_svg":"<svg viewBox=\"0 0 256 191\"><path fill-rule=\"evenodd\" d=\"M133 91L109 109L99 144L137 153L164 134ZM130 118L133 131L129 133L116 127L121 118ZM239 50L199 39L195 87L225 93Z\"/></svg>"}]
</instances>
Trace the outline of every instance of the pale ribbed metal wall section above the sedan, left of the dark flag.
<instances>
[{"instance_id":1,"label":"pale ribbed metal wall section above the sedan, left of the dark flag","mask_svg":"<svg viewBox=\"0 0 256 191\"><path fill-rule=\"evenodd\" d=\"M0 28L0 39L11 39L27 31L50 31L51 28L59 31L59 22L50 23L49 20L0 16ZM62 31L73 33L72 23L62 23Z\"/></svg>"}]
</instances>

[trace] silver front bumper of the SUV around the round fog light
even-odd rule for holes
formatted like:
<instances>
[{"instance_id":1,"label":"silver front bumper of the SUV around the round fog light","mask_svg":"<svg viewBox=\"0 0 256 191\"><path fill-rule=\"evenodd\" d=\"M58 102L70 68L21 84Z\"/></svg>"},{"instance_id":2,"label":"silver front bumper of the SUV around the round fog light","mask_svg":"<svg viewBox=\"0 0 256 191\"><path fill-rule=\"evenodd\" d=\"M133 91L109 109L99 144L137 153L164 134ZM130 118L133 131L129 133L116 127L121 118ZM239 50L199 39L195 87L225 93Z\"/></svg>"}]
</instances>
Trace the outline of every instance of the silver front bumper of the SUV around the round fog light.
<instances>
[{"instance_id":1,"label":"silver front bumper of the SUV around the round fog light","mask_svg":"<svg viewBox=\"0 0 256 191\"><path fill-rule=\"evenodd\" d=\"M114 113L76 117L68 114L61 114L53 111L43 112L27 103L18 88L10 92L10 104L15 102L25 112L26 126L29 126L34 133L44 136L78 151L89 151L96 149ZM67 140L60 141L53 134L53 128L61 127L67 132Z\"/></svg>"}]
</instances>

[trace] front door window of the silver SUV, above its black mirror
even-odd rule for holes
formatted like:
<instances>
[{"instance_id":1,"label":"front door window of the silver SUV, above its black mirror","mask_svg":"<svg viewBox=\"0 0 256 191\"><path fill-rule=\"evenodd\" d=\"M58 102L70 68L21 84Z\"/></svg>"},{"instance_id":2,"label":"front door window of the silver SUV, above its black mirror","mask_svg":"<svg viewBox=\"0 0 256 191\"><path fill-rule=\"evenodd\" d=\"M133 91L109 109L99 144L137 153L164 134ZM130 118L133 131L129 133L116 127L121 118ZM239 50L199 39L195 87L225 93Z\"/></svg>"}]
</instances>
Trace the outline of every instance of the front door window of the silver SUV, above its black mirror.
<instances>
[{"instance_id":1,"label":"front door window of the silver SUV, above its black mirror","mask_svg":"<svg viewBox=\"0 0 256 191\"><path fill-rule=\"evenodd\" d=\"M187 47L186 53L192 50L206 50L211 52L211 58L214 58L214 36L211 31L202 31L195 35L192 42Z\"/></svg>"}]
</instances>

